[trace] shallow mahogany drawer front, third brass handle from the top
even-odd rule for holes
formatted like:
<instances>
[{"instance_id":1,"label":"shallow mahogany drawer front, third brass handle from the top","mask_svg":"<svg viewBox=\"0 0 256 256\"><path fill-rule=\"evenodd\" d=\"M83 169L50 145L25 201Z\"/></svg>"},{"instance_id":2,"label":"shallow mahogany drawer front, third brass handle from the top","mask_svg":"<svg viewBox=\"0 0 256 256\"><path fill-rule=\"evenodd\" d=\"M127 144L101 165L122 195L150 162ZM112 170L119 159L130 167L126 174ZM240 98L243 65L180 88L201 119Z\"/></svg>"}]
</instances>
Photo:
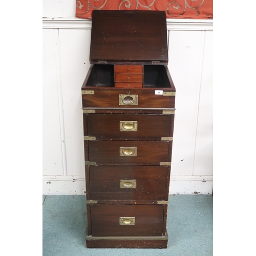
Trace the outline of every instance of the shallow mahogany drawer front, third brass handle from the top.
<instances>
[{"instance_id":1,"label":"shallow mahogany drawer front, third brass handle from the top","mask_svg":"<svg viewBox=\"0 0 256 256\"><path fill-rule=\"evenodd\" d=\"M88 141L89 161L97 163L169 162L172 141Z\"/></svg>"}]
</instances>

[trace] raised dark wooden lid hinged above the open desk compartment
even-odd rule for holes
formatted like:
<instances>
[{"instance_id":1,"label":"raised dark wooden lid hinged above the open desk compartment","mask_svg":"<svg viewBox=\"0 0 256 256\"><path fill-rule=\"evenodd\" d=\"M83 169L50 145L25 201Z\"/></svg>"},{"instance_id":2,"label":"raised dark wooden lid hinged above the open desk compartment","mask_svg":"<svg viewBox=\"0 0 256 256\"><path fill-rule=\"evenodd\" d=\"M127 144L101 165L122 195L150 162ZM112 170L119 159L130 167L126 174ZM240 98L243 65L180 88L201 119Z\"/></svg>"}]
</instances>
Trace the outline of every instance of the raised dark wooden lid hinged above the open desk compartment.
<instances>
[{"instance_id":1,"label":"raised dark wooden lid hinged above the open desk compartment","mask_svg":"<svg viewBox=\"0 0 256 256\"><path fill-rule=\"evenodd\" d=\"M93 10L90 62L167 65L165 12Z\"/></svg>"}]
</instances>

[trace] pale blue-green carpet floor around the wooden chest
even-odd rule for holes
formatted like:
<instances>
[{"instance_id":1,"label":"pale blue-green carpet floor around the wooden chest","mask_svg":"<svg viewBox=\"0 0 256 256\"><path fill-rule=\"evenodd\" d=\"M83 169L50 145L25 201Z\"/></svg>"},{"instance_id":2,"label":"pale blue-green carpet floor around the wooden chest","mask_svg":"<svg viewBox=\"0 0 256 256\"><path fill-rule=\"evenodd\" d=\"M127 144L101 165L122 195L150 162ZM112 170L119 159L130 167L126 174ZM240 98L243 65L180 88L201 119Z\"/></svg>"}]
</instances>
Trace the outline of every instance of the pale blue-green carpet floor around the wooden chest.
<instances>
[{"instance_id":1,"label":"pale blue-green carpet floor around the wooden chest","mask_svg":"<svg viewBox=\"0 0 256 256\"><path fill-rule=\"evenodd\" d=\"M167 249L88 249L86 196L42 196L44 256L212 255L211 195L169 196Z\"/></svg>"}]
</instances>

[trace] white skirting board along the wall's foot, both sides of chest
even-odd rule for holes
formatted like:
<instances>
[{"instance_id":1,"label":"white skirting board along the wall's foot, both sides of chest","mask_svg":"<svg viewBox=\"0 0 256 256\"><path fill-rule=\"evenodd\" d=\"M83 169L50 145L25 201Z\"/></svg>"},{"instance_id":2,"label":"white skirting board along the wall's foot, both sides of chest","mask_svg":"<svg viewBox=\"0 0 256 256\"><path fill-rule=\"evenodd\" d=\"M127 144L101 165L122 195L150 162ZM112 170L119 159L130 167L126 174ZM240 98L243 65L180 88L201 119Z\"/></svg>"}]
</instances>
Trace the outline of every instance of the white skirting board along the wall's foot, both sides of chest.
<instances>
[{"instance_id":1,"label":"white skirting board along the wall's foot, both sides of chest","mask_svg":"<svg viewBox=\"0 0 256 256\"><path fill-rule=\"evenodd\" d=\"M84 195L84 176L43 176L43 195ZM212 176L173 176L170 178L170 195L209 195L212 193Z\"/></svg>"}]
</instances>

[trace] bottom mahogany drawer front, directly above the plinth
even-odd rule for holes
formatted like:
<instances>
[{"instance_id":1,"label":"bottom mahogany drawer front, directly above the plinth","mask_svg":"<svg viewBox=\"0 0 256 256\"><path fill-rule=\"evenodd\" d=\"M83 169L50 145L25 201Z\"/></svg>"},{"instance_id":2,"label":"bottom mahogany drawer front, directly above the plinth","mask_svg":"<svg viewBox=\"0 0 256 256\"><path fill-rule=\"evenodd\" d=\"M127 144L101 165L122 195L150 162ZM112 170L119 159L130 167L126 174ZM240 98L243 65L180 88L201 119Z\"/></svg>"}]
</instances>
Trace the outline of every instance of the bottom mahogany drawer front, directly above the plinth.
<instances>
[{"instance_id":1,"label":"bottom mahogany drawer front, directly above the plinth","mask_svg":"<svg viewBox=\"0 0 256 256\"><path fill-rule=\"evenodd\" d=\"M163 205L91 205L92 236L162 236Z\"/></svg>"}]
</instances>

